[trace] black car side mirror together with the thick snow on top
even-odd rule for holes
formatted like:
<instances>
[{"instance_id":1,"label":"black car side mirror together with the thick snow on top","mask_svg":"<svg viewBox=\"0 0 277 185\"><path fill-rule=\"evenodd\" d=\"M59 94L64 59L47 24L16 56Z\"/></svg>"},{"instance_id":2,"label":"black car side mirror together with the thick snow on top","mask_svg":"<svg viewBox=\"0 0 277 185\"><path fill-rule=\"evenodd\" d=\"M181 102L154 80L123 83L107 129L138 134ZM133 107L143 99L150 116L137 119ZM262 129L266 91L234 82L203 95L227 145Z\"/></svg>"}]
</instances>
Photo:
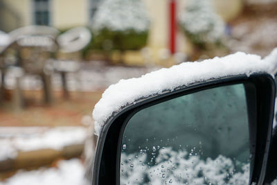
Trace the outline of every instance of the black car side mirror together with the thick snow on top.
<instances>
[{"instance_id":1,"label":"black car side mirror together with the thick snow on top","mask_svg":"<svg viewBox=\"0 0 277 185\"><path fill-rule=\"evenodd\" d=\"M274 184L277 49L120 80L93 110L93 184Z\"/></svg>"}]
</instances>

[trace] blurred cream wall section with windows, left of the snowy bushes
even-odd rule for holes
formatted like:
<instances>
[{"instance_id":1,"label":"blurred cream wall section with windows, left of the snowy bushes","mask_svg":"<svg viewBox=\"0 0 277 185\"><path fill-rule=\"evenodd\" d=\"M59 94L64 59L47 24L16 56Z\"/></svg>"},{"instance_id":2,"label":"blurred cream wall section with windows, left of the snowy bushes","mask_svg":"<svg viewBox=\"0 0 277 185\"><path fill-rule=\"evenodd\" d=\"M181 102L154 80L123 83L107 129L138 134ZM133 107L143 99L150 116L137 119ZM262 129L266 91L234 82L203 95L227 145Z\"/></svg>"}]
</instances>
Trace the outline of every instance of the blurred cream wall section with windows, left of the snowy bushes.
<instances>
[{"instance_id":1,"label":"blurred cream wall section with windows, left of the snowy bushes","mask_svg":"<svg viewBox=\"0 0 277 185\"><path fill-rule=\"evenodd\" d=\"M87 26L98 0L1 0L0 30L48 25L58 29Z\"/></svg>"}]
</instances>

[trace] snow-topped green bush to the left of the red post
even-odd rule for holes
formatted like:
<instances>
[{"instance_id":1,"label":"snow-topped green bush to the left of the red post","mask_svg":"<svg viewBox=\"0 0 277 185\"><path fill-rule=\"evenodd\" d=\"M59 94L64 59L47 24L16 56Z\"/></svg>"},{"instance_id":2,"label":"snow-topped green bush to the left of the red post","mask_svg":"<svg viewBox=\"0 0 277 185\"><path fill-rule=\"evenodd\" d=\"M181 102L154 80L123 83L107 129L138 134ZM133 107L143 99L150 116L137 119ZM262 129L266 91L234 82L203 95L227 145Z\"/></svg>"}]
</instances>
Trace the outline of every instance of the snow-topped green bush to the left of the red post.
<instances>
[{"instance_id":1,"label":"snow-topped green bush to the left of the red post","mask_svg":"<svg viewBox=\"0 0 277 185\"><path fill-rule=\"evenodd\" d=\"M94 47L141 49L146 44L150 20L141 0L105 0L92 21Z\"/></svg>"}]
</instances>

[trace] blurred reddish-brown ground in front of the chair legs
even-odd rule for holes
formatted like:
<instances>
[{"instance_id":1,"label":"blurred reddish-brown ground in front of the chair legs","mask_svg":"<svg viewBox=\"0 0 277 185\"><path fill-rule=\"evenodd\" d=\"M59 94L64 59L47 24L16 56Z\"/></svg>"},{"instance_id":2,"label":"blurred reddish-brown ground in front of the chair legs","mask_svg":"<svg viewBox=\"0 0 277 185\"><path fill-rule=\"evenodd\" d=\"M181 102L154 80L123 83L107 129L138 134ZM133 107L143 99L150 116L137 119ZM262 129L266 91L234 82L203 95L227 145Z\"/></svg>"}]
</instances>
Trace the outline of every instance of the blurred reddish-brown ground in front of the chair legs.
<instances>
[{"instance_id":1,"label":"blurred reddish-brown ground in front of the chair legs","mask_svg":"<svg viewBox=\"0 0 277 185\"><path fill-rule=\"evenodd\" d=\"M0 127L82 125L82 118L91 116L102 91L71 92L69 100L64 100L61 92L55 92L51 106L43 105L42 91L25 91L24 94L28 104L22 111L13 111L8 101L0 106Z\"/></svg>"}]
</instances>

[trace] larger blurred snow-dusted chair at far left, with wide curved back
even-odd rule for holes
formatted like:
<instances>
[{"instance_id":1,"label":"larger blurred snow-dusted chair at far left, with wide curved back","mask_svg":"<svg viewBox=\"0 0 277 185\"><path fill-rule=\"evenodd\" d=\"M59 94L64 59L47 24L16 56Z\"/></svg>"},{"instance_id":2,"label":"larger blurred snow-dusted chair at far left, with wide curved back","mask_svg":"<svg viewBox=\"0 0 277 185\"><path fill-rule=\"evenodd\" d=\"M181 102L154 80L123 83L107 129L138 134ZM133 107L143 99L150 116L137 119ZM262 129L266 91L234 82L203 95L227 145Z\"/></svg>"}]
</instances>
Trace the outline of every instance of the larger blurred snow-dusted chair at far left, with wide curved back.
<instances>
[{"instance_id":1,"label":"larger blurred snow-dusted chair at far left, with wide curved back","mask_svg":"<svg viewBox=\"0 0 277 185\"><path fill-rule=\"evenodd\" d=\"M3 88L5 86L7 71L13 70L17 73L17 85L13 97L16 107L22 106L23 99L21 98L19 81L25 73L41 76L44 86L44 100L46 103L51 103L51 71L46 68L46 60L51 58L57 50L55 39L58 33L58 30L48 26L26 26L8 34L10 42L0 53L0 68L3 79L1 86Z\"/></svg>"}]
</instances>

